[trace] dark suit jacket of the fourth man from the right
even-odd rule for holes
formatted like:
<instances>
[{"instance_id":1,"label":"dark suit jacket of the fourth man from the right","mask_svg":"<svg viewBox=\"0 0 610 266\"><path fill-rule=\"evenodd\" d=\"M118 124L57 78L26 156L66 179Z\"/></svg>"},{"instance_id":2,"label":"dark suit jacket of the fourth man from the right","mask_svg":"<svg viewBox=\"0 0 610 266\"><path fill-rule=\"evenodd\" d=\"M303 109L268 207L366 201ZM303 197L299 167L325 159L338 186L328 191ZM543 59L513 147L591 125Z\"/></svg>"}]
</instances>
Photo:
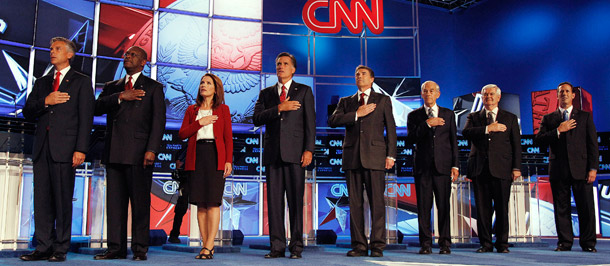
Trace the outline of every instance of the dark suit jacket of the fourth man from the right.
<instances>
[{"instance_id":1,"label":"dark suit jacket of the fourth man from the right","mask_svg":"<svg viewBox=\"0 0 610 266\"><path fill-rule=\"evenodd\" d=\"M386 157L396 158L396 123L390 97L371 90L367 103L377 107L356 121L358 94L343 97L328 118L331 127L345 126L343 169L358 169L362 165L366 169L385 170Z\"/></svg>"}]
</instances>

